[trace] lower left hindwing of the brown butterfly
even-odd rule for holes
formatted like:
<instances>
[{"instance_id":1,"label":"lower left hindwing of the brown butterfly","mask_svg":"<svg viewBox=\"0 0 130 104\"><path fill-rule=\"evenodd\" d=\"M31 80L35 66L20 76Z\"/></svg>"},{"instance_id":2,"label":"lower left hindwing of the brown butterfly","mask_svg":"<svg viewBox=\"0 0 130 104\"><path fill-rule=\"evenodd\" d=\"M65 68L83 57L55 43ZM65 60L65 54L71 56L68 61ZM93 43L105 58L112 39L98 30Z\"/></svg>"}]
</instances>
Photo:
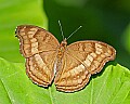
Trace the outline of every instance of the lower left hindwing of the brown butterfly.
<instances>
[{"instance_id":1,"label":"lower left hindwing of the brown butterfly","mask_svg":"<svg viewBox=\"0 0 130 104\"><path fill-rule=\"evenodd\" d=\"M55 51L41 52L26 58L26 73L37 84L48 87L54 78Z\"/></svg>"}]
</instances>

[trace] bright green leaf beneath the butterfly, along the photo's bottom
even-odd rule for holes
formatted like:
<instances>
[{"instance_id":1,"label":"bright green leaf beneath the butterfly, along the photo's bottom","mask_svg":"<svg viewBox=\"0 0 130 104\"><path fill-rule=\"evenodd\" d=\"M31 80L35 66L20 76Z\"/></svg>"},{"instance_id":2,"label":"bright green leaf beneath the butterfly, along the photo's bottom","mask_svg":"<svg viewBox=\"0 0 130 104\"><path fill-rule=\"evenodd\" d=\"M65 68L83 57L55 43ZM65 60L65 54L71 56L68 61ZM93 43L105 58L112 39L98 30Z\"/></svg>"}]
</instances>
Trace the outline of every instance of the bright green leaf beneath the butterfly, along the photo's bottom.
<instances>
[{"instance_id":1,"label":"bright green leaf beneath the butterfly, along the photo's bottom","mask_svg":"<svg viewBox=\"0 0 130 104\"><path fill-rule=\"evenodd\" d=\"M64 93L32 83L23 63L0 58L0 104L129 104L130 70L114 62L91 77L81 91Z\"/></svg>"}]
</instances>

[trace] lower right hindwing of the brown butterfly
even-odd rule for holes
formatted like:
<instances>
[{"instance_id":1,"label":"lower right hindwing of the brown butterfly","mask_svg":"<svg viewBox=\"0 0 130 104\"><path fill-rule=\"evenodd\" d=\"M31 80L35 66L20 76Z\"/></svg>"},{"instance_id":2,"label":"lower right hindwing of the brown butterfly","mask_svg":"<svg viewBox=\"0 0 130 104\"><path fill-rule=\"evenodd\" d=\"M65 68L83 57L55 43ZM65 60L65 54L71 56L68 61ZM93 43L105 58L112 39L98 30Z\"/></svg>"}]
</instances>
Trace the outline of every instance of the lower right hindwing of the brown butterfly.
<instances>
[{"instance_id":1,"label":"lower right hindwing of the brown butterfly","mask_svg":"<svg viewBox=\"0 0 130 104\"><path fill-rule=\"evenodd\" d=\"M56 89L64 92L80 90L89 81L91 74L83 63L67 52L62 61L62 68L56 73L54 83Z\"/></svg>"}]
</instances>

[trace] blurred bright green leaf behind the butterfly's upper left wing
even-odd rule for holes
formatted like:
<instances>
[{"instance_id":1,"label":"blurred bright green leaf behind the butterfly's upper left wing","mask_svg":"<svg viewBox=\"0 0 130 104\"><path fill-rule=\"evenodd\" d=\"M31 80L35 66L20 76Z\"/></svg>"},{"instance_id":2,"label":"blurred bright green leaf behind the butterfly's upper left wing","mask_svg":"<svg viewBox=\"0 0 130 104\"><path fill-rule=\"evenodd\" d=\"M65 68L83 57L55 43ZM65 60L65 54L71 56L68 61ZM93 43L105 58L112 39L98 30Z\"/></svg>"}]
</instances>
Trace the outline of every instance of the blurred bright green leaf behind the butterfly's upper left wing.
<instances>
[{"instance_id":1,"label":"blurred bright green leaf behind the butterfly's upper left wing","mask_svg":"<svg viewBox=\"0 0 130 104\"><path fill-rule=\"evenodd\" d=\"M0 56L8 61L24 62L15 38L15 28L22 24L47 28L42 0L0 0Z\"/></svg>"}]
</instances>

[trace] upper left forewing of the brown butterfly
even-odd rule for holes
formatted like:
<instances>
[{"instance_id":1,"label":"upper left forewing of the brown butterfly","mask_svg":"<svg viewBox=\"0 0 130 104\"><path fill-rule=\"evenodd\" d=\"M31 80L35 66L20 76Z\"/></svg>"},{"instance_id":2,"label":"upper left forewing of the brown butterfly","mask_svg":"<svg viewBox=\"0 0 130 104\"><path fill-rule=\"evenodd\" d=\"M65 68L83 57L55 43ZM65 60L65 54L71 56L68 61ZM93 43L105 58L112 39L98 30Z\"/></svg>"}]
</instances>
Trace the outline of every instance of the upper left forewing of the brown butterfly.
<instances>
[{"instance_id":1,"label":"upper left forewing of the brown butterfly","mask_svg":"<svg viewBox=\"0 0 130 104\"><path fill-rule=\"evenodd\" d=\"M38 26L17 26L16 36L20 38L21 53L25 57L43 51L54 51L60 46L57 39L51 32Z\"/></svg>"}]
</instances>

